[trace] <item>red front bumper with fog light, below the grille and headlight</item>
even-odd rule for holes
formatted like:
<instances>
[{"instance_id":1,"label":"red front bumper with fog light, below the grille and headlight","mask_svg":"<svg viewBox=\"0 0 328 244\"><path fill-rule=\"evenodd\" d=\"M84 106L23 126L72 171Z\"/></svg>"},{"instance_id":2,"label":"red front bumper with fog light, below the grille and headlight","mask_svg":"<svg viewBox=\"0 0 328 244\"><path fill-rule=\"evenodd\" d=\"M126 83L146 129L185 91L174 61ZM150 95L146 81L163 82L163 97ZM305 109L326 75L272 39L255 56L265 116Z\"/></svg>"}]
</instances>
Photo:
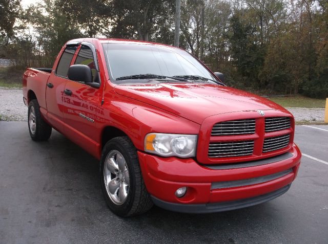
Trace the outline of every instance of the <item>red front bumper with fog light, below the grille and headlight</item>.
<instances>
[{"instance_id":1,"label":"red front bumper with fog light, below the grille and headlight","mask_svg":"<svg viewBox=\"0 0 328 244\"><path fill-rule=\"evenodd\" d=\"M288 155L220 168L193 159L161 158L138 152L148 192L159 207L178 212L219 212L269 201L286 192L301 159L293 144ZM275 161L276 159L277 161ZM185 196L175 191L188 187Z\"/></svg>"}]
</instances>

